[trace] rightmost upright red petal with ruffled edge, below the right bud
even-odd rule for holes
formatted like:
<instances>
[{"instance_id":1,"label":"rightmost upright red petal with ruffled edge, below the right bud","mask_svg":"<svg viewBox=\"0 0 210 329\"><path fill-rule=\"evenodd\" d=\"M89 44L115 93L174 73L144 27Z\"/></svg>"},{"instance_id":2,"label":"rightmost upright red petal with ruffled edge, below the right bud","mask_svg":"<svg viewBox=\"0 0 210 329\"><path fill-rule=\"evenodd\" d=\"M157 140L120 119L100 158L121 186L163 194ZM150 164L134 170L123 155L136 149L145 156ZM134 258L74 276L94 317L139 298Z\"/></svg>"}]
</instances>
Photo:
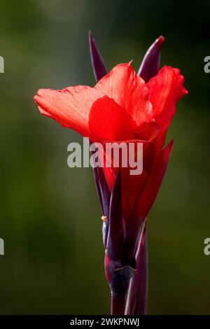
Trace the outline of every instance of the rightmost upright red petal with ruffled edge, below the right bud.
<instances>
[{"instance_id":1,"label":"rightmost upright red petal with ruffled edge, below the right bud","mask_svg":"<svg viewBox=\"0 0 210 329\"><path fill-rule=\"evenodd\" d=\"M153 104L155 122L165 132L176 112L176 102L188 91L183 87L183 76L179 69L164 66L157 76L147 83L149 99Z\"/></svg>"}]
</instances>

